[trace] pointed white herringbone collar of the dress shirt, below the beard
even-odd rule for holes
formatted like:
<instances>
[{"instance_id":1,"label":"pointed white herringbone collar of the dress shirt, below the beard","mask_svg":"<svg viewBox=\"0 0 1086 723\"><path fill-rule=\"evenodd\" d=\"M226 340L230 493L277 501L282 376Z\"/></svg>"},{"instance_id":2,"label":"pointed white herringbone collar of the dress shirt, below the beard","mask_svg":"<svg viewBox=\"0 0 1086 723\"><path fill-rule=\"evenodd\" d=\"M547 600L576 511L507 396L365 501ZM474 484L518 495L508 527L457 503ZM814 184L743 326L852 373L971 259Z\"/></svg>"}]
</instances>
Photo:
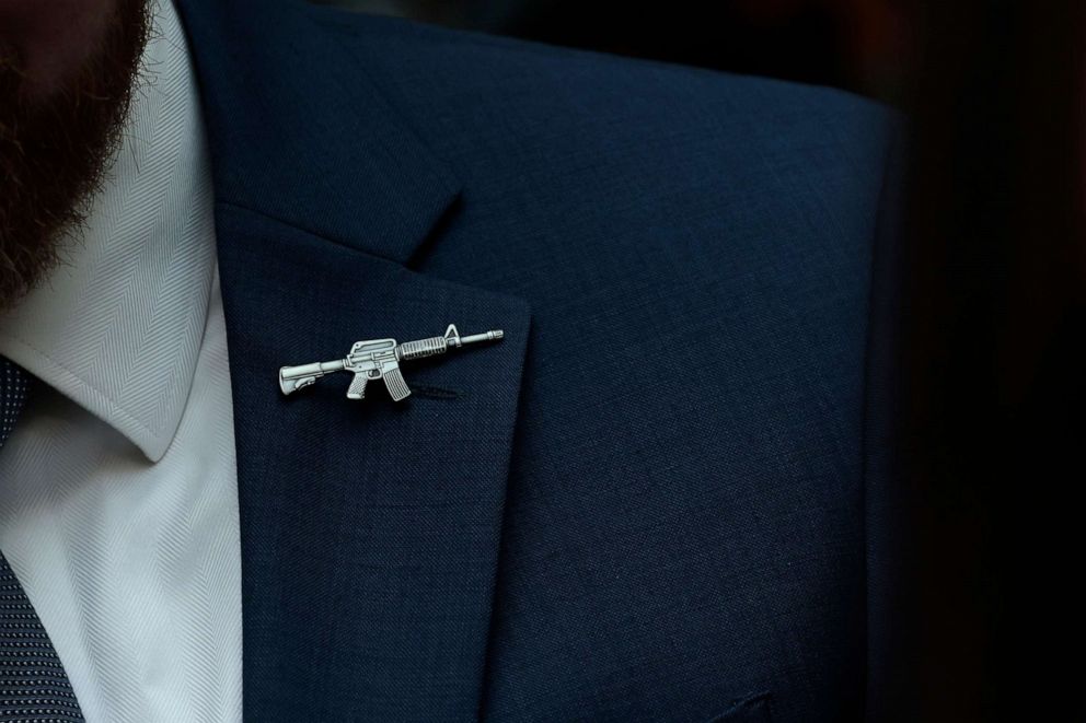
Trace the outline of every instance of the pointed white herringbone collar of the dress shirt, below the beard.
<instances>
[{"instance_id":1,"label":"pointed white herringbone collar of the dress shirt, below the beard","mask_svg":"<svg viewBox=\"0 0 1086 723\"><path fill-rule=\"evenodd\" d=\"M151 460L170 446L215 275L210 167L195 75L170 0L153 5L124 140L66 264L0 317L0 354Z\"/></svg>"}]
</instances>

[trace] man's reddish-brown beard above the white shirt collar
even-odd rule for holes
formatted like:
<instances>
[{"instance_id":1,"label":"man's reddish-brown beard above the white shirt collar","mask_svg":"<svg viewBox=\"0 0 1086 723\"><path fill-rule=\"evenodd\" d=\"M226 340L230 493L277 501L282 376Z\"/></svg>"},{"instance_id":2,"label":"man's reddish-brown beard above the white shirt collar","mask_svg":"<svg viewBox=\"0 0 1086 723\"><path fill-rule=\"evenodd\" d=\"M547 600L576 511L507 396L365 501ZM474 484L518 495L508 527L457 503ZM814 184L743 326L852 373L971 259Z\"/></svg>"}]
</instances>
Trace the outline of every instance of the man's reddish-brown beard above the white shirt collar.
<instances>
[{"instance_id":1,"label":"man's reddish-brown beard above the white shirt collar","mask_svg":"<svg viewBox=\"0 0 1086 723\"><path fill-rule=\"evenodd\" d=\"M37 97L22 54L0 46L0 310L48 276L119 144L150 28L146 0L119 0L103 42Z\"/></svg>"}]
</instances>

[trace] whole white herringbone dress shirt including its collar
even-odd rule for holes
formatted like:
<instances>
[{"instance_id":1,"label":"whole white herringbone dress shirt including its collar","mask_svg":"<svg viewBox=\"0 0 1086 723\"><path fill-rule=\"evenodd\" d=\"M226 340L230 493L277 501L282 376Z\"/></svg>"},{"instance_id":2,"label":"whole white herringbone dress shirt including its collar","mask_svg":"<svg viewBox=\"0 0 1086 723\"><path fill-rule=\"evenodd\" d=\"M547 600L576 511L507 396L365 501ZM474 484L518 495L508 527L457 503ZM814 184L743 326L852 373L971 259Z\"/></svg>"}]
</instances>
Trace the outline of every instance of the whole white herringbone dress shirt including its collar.
<instances>
[{"instance_id":1,"label":"whole white herringbone dress shirt including its collar","mask_svg":"<svg viewBox=\"0 0 1086 723\"><path fill-rule=\"evenodd\" d=\"M41 380L0 453L0 550L86 720L241 720L241 559L209 162L155 8L123 147L68 264L0 317Z\"/></svg>"}]
</instances>

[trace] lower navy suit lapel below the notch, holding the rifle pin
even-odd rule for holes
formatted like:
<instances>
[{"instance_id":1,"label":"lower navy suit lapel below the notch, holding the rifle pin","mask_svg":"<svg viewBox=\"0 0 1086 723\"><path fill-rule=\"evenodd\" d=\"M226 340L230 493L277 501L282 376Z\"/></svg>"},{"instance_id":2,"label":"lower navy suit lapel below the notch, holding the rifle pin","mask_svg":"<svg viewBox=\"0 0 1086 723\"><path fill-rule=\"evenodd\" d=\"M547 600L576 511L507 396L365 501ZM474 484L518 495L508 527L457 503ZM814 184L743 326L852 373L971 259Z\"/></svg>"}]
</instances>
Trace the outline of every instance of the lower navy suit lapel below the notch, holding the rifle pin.
<instances>
[{"instance_id":1,"label":"lower navy suit lapel below the notch, holding the rifle pin","mask_svg":"<svg viewBox=\"0 0 1086 723\"><path fill-rule=\"evenodd\" d=\"M220 209L242 522L246 720L475 715L528 312ZM415 394L282 397L356 339L504 326L405 365ZM376 385L379 386L379 385Z\"/></svg>"}]
</instances>

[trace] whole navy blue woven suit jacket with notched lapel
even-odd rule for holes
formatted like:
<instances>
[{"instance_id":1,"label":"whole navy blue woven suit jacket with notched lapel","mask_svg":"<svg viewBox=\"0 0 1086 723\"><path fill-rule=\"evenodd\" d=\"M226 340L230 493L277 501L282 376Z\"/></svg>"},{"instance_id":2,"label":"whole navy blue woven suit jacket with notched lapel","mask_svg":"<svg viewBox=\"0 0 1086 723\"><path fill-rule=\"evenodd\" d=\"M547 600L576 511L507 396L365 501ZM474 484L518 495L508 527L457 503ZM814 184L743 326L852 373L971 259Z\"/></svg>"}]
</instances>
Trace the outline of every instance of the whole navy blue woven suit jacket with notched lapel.
<instances>
[{"instance_id":1,"label":"whole navy blue woven suit jacket with notched lapel","mask_svg":"<svg viewBox=\"0 0 1086 723\"><path fill-rule=\"evenodd\" d=\"M880 703L887 113L304 4L181 0L212 153L247 721ZM885 228L887 222L883 220ZM502 328L415 394L284 397Z\"/></svg>"}]
</instances>

